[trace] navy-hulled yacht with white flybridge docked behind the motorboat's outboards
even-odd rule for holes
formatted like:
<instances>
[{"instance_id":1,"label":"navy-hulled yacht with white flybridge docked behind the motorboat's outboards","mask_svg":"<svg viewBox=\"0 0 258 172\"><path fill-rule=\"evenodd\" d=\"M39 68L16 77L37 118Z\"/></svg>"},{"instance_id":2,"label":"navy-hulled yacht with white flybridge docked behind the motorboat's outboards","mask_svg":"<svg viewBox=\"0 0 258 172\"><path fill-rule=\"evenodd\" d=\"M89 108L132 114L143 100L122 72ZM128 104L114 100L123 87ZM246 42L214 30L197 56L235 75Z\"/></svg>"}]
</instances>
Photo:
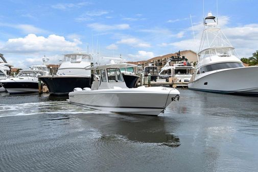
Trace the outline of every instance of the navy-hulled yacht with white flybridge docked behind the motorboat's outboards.
<instances>
[{"instance_id":1,"label":"navy-hulled yacht with white flybridge docked behind the motorboat's outboards","mask_svg":"<svg viewBox=\"0 0 258 172\"><path fill-rule=\"evenodd\" d=\"M48 87L49 92L56 95L68 95L74 88L90 87L91 55L83 52L66 54L56 75L42 76L39 79Z\"/></svg>"}]
</instances>

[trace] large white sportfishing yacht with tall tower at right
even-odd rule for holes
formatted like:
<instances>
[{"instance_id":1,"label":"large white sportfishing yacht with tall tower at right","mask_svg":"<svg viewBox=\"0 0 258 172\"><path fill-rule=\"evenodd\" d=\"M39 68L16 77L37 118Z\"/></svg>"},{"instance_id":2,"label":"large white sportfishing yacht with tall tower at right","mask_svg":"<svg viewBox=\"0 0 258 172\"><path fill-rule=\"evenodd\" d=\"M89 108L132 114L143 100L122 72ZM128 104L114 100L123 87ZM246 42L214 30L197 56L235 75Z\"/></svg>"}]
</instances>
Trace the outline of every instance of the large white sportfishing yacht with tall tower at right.
<instances>
[{"instance_id":1,"label":"large white sportfishing yacht with tall tower at right","mask_svg":"<svg viewBox=\"0 0 258 172\"><path fill-rule=\"evenodd\" d=\"M212 13L204 19L198 64L189 89L258 95L258 66L244 67Z\"/></svg>"}]
</instances>

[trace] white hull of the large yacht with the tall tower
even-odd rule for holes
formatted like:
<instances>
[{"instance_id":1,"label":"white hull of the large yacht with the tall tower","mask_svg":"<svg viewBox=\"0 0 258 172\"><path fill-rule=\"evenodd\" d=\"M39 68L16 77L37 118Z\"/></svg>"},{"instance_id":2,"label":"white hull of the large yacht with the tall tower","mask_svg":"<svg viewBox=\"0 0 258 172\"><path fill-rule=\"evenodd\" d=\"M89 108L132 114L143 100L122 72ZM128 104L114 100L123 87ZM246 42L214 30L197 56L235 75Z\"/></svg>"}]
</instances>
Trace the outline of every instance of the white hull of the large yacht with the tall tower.
<instances>
[{"instance_id":1,"label":"white hull of the large yacht with the tall tower","mask_svg":"<svg viewBox=\"0 0 258 172\"><path fill-rule=\"evenodd\" d=\"M189 83L188 88L207 92L257 96L258 66L215 71Z\"/></svg>"}]
</instances>

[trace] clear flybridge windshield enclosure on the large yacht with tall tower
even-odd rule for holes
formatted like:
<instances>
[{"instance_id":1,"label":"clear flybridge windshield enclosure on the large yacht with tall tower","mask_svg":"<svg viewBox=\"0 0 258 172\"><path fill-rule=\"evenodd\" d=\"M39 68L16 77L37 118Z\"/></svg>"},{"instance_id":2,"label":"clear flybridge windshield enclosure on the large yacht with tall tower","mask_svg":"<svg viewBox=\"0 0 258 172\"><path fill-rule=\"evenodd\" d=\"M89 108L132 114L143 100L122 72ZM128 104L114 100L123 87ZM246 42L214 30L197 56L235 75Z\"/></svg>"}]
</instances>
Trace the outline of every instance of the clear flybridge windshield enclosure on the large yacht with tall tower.
<instances>
[{"instance_id":1,"label":"clear flybridge windshield enclosure on the large yacht with tall tower","mask_svg":"<svg viewBox=\"0 0 258 172\"><path fill-rule=\"evenodd\" d=\"M200 59L204 59L210 56L219 56L219 57L229 57L229 56L237 56L233 47L214 47L208 48L202 52L200 52Z\"/></svg>"}]
</instances>

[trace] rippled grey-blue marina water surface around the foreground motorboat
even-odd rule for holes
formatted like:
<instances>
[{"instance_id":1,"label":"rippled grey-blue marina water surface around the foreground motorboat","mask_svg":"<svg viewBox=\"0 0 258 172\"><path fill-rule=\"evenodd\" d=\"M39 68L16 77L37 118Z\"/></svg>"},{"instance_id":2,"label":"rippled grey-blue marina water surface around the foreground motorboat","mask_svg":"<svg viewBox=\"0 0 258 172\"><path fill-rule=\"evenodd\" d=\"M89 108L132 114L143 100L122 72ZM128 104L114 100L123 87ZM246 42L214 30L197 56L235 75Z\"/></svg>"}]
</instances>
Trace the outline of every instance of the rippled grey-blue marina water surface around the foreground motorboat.
<instances>
[{"instance_id":1,"label":"rippled grey-blue marina water surface around the foreground motorboat","mask_svg":"<svg viewBox=\"0 0 258 172\"><path fill-rule=\"evenodd\" d=\"M180 90L157 117L0 94L0 171L258 171L258 97Z\"/></svg>"}]
</instances>

